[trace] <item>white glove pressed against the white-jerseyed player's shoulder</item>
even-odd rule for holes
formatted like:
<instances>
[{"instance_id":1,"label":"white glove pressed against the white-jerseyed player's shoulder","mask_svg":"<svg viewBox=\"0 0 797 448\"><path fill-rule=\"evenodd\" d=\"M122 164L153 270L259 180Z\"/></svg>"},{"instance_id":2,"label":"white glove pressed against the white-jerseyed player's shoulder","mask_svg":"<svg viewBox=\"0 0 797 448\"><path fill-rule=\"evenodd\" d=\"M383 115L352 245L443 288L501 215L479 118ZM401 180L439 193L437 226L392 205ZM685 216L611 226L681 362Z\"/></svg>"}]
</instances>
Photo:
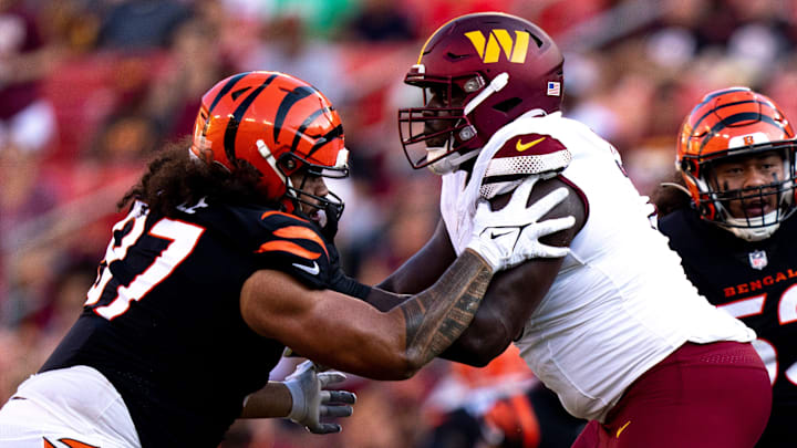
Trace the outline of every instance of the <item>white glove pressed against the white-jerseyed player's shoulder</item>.
<instances>
[{"instance_id":1,"label":"white glove pressed against the white-jerseyed player's shoulder","mask_svg":"<svg viewBox=\"0 0 797 448\"><path fill-rule=\"evenodd\" d=\"M513 192L509 202L500 210L491 210L487 200L479 201L468 248L478 252L493 271L511 268L530 258L560 258L568 254L568 248L558 248L539 242L540 237L569 229L576 218L548 219L538 222L544 215L568 196L567 188L558 188L526 207L531 187L537 177L526 179Z\"/></svg>"}]
</instances>

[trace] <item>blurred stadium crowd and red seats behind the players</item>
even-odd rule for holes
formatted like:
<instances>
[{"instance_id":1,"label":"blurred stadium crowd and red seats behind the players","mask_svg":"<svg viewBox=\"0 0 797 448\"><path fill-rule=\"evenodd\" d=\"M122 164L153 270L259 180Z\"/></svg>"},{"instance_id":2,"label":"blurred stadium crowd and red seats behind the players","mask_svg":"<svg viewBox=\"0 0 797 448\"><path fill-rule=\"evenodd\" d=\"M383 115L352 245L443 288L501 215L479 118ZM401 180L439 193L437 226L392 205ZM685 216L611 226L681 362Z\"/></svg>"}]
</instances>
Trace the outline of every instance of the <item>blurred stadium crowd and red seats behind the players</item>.
<instances>
[{"instance_id":1,"label":"blurred stadium crowd and red seats behind the players","mask_svg":"<svg viewBox=\"0 0 797 448\"><path fill-rule=\"evenodd\" d=\"M797 116L797 0L0 0L0 403L76 319L116 200L235 72L283 71L337 105L353 157L352 178L330 185L346 202L337 241L351 274L384 278L438 219L438 179L398 143L395 111L420 101L403 76L437 27L490 10L557 40L566 115L614 143L643 194L671 176L704 93L747 85ZM352 378L342 434L241 421L224 446L431 446L442 413L528 387L524 368L437 361L406 382Z\"/></svg>"}]
</instances>

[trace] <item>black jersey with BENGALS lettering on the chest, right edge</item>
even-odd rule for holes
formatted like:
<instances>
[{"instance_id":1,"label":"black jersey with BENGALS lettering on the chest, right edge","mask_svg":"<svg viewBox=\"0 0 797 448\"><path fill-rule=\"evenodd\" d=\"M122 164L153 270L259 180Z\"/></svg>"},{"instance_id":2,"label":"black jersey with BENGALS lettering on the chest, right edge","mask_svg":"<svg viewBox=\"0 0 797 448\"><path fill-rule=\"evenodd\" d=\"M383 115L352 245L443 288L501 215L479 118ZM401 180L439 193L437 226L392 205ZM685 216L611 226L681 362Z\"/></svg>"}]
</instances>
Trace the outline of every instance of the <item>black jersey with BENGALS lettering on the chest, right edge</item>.
<instances>
[{"instance_id":1,"label":"black jersey with BENGALS lettering on the chest, right edge","mask_svg":"<svg viewBox=\"0 0 797 448\"><path fill-rule=\"evenodd\" d=\"M744 241L691 209L660 220L701 294L756 331L769 371L773 413L758 447L791 447L797 419L797 218L768 239Z\"/></svg>"}]
</instances>

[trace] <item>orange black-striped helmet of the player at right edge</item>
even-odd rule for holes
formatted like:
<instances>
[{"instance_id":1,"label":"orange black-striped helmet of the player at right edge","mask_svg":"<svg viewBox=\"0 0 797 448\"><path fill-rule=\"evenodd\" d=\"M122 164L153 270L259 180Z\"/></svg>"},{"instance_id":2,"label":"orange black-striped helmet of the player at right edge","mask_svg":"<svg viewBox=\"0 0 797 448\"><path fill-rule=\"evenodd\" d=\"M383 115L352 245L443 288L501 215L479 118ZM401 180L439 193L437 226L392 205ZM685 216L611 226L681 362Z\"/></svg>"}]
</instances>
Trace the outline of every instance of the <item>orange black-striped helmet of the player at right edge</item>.
<instances>
[{"instance_id":1,"label":"orange black-striped helmet of the player at right edge","mask_svg":"<svg viewBox=\"0 0 797 448\"><path fill-rule=\"evenodd\" d=\"M684 121L677 142L681 171L701 217L739 238L767 238L795 210L795 133L780 108L767 96L747 87L708 93ZM720 190L712 167L717 162L778 150L784 178L765 186ZM777 195L777 210L759 217L733 217L729 200Z\"/></svg>"}]
</instances>

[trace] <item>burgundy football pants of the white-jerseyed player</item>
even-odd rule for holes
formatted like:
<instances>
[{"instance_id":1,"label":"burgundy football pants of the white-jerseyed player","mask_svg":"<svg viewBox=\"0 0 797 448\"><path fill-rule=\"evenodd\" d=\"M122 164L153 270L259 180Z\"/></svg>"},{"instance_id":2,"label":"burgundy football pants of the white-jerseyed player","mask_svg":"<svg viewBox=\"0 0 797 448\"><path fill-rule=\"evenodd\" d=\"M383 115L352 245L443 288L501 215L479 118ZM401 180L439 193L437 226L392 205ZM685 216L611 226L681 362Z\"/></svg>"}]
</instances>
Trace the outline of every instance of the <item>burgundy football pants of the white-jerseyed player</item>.
<instances>
[{"instance_id":1,"label":"burgundy football pants of the white-jerseyed player","mask_svg":"<svg viewBox=\"0 0 797 448\"><path fill-rule=\"evenodd\" d=\"M572 448L752 448L772 387L751 344L686 343L640 376Z\"/></svg>"}]
</instances>

